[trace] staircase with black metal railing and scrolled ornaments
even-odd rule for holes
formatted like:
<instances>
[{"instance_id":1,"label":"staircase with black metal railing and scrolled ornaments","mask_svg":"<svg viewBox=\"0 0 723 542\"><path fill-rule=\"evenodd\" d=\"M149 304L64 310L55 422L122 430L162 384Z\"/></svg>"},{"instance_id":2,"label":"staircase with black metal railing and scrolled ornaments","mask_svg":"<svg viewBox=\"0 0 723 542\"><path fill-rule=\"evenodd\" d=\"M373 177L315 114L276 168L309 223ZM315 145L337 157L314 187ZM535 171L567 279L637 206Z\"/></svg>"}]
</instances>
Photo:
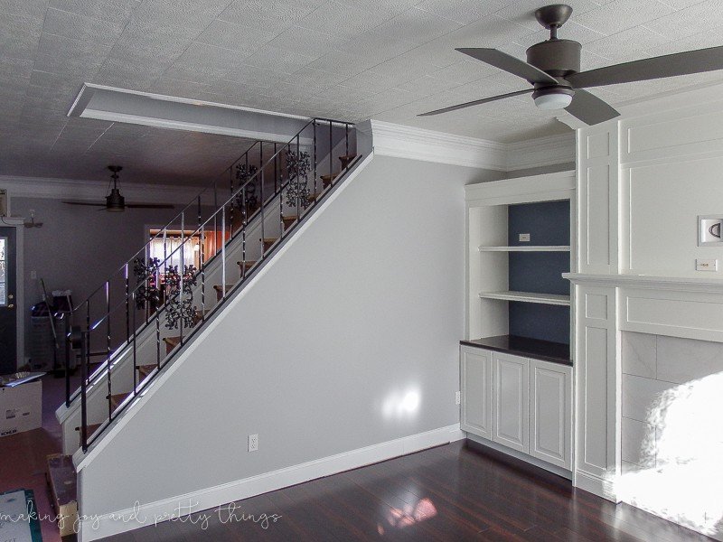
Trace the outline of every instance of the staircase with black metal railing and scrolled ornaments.
<instances>
[{"instance_id":1,"label":"staircase with black metal railing and scrolled ornaments","mask_svg":"<svg viewBox=\"0 0 723 542\"><path fill-rule=\"evenodd\" d=\"M47 476L66 523L79 508L74 462L343 182L361 159L355 146L351 124L320 118L286 144L256 142L74 307L56 412L63 454L48 458Z\"/></svg>"}]
</instances>

